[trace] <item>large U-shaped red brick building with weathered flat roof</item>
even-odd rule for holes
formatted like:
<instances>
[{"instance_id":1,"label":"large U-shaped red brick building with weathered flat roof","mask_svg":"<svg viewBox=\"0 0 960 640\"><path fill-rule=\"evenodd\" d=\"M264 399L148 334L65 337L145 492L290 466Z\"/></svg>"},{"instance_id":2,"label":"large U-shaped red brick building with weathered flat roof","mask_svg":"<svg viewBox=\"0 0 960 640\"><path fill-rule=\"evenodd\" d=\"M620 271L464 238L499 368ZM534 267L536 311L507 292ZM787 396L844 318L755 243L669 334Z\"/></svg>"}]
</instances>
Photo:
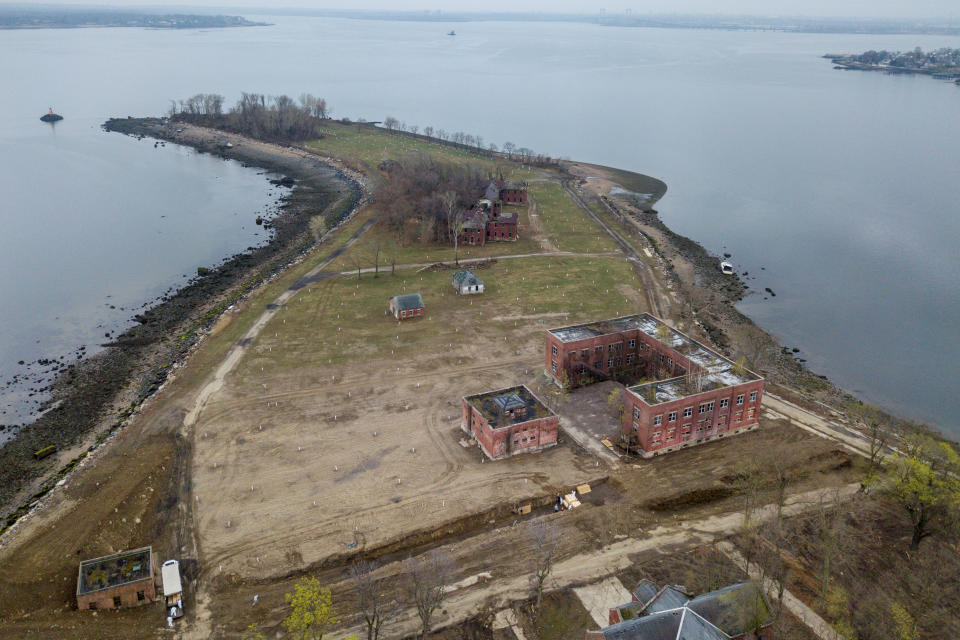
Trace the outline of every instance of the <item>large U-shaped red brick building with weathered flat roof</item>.
<instances>
[{"instance_id":1,"label":"large U-shaped red brick building with weathered flat roof","mask_svg":"<svg viewBox=\"0 0 960 640\"><path fill-rule=\"evenodd\" d=\"M644 456L758 426L763 378L650 314L551 329L546 370L571 387L653 379L623 400L621 443Z\"/></svg>"}]
</instances>

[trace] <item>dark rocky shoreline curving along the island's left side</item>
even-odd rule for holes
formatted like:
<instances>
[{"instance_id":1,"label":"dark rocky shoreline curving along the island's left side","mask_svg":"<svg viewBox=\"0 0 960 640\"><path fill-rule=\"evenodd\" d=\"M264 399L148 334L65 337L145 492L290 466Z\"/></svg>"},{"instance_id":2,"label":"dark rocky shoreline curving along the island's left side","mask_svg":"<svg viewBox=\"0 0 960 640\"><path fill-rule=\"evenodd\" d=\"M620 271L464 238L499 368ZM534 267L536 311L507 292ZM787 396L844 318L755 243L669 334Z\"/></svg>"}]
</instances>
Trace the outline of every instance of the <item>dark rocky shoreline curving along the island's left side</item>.
<instances>
[{"instance_id":1,"label":"dark rocky shoreline curving along the island's left side","mask_svg":"<svg viewBox=\"0 0 960 640\"><path fill-rule=\"evenodd\" d=\"M362 179L344 167L292 148L224 142L226 134L174 127L158 118L107 121L107 131L191 146L283 176L293 186L272 237L206 270L132 319L94 356L62 367L52 385L52 407L0 448L0 531L9 527L116 429L166 380L219 315L234 302L297 260L319 239L311 221L323 213L332 228L361 201ZM41 460L34 452L54 445ZM18 506L19 505L19 506Z\"/></svg>"}]
</instances>

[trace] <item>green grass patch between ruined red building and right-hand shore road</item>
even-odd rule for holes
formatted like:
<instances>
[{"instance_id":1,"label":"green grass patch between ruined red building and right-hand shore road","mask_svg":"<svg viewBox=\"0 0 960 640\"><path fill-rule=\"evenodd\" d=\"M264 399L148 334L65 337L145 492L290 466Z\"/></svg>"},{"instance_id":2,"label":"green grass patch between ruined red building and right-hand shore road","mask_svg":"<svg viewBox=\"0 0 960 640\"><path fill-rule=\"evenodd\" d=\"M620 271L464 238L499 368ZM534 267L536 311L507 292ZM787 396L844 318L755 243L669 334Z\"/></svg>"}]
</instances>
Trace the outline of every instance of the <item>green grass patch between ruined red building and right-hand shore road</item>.
<instances>
[{"instance_id":1,"label":"green grass patch between ruined red building and right-hand shore road","mask_svg":"<svg viewBox=\"0 0 960 640\"><path fill-rule=\"evenodd\" d=\"M555 249L575 253L617 251L617 245L597 227L553 182L533 182L528 193L536 200L537 215Z\"/></svg>"}]
</instances>

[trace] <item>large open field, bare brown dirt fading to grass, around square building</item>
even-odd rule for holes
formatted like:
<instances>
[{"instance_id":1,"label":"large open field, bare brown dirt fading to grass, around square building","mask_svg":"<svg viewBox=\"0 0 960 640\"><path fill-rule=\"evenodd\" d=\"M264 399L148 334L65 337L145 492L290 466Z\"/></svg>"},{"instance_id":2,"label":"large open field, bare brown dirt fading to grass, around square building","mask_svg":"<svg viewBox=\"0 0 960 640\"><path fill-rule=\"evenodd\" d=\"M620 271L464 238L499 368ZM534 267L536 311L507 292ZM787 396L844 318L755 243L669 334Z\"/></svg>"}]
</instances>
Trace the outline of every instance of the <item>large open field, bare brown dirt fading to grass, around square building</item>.
<instances>
[{"instance_id":1,"label":"large open field, bare brown dirt fading to grass, around square building","mask_svg":"<svg viewBox=\"0 0 960 640\"><path fill-rule=\"evenodd\" d=\"M579 260L604 277L620 264ZM563 280L559 297L578 293L577 279L561 271L572 259L528 262L521 283L539 269L544 290ZM354 545L379 548L605 475L605 465L567 443L498 462L463 446L461 398L537 386L543 328L563 322L549 311L550 294L515 319L511 269L518 273L507 263L483 270L490 286L473 298L453 293L448 271L367 276L359 286L342 276L292 298L194 427L204 566L242 578L285 575L352 555ZM597 277L580 280L592 288ZM389 293L404 289L423 294L425 318L399 324L385 314ZM615 288L605 291L597 306L609 298L629 308Z\"/></svg>"}]
</instances>

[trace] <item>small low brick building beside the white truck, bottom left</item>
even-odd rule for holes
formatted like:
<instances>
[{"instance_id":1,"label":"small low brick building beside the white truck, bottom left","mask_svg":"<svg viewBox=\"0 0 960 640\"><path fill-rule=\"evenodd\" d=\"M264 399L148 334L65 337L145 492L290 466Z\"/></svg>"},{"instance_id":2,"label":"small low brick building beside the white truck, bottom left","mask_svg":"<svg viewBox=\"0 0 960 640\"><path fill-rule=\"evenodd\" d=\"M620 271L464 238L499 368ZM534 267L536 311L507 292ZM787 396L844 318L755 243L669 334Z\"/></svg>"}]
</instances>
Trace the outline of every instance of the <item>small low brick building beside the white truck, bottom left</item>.
<instances>
[{"instance_id":1,"label":"small low brick building beside the white truck, bottom left","mask_svg":"<svg viewBox=\"0 0 960 640\"><path fill-rule=\"evenodd\" d=\"M77 608L119 609L153 602L155 574L150 547L85 560L77 575Z\"/></svg>"}]
</instances>

